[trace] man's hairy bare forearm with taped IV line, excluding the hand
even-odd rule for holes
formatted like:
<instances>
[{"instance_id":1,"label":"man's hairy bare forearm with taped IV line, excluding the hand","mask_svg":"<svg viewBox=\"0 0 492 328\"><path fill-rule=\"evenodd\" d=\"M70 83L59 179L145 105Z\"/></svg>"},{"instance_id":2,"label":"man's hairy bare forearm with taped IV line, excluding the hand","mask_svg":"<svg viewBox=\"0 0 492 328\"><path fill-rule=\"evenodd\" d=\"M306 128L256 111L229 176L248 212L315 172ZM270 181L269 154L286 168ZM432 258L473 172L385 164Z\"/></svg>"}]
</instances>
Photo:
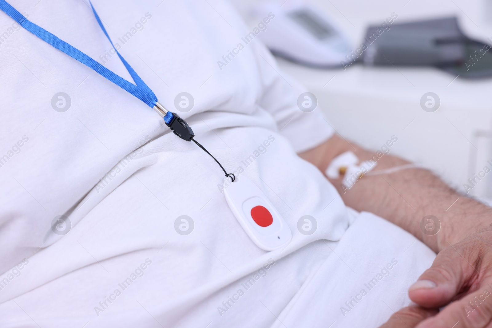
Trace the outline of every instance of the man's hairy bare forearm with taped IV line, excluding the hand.
<instances>
[{"instance_id":1,"label":"man's hairy bare forearm with taped IV line, excluding the hand","mask_svg":"<svg viewBox=\"0 0 492 328\"><path fill-rule=\"evenodd\" d=\"M339 154L351 150L360 161L375 153L334 136L301 157L325 172ZM383 155L372 172L407 164L398 157ZM435 252L449 246L492 222L492 209L458 194L442 180L424 169L404 169L391 174L365 175L352 188L344 190L341 179L331 181L347 206L379 215L413 234ZM434 236L424 234L420 222L426 215L436 216L441 229Z\"/></svg>"}]
</instances>

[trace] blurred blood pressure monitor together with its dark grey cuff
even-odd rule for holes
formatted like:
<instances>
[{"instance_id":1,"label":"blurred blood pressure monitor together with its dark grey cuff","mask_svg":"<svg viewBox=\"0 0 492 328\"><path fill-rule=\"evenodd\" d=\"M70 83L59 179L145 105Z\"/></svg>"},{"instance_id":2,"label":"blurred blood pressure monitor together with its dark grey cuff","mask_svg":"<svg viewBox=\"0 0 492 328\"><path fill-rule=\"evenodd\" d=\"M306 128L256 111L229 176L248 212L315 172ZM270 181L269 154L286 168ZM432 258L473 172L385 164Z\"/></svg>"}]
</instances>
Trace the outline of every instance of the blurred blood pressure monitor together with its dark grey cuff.
<instances>
[{"instance_id":1,"label":"blurred blood pressure monitor together with its dark grey cuff","mask_svg":"<svg viewBox=\"0 0 492 328\"><path fill-rule=\"evenodd\" d=\"M491 46L466 36L456 17L396 23L392 13L369 26L360 47L352 49L334 21L304 0L260 2L251 12L260 22L274 13L259 38L274 55L306 66L433 66L464 78L492 77Z\"/></svg>"}]
</instances>

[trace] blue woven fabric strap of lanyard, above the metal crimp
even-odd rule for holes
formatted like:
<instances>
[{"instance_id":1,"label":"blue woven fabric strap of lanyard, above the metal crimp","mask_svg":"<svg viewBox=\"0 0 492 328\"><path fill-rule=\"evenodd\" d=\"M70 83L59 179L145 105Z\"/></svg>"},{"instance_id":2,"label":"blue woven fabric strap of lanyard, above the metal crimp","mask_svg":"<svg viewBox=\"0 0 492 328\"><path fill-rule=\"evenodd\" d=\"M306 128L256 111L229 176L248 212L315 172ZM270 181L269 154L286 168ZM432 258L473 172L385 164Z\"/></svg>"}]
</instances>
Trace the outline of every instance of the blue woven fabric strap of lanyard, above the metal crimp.
<instances>
[{"instance_id":1,"label":"blue woven fabric strap of lanyard, above the metal crimp","mask_svg":"<svg viewBox=\"0 0 492 328\"><path fill-rule=\"evenodd\" d=\"M92 3L91 3L91 7L92 7ZM142 81L142 79L133 70L133 68L131 68L128 62L126 62L126 60L123 59L122 55L120 55L118 51L116 51L118 53L118 56L123 61L124 66L128 70L128 73L130 73L131 77L133 78L133 81L135 81L136 86L133 83L126 81L121 76L113 73L111 70L107 69L97 61L93 60L91 57L87 56L82 51L78 50L77 48L61 40L56 35L30 22L27 18L25 18L20 12L18 12L5 0L0 0L0 9L4 11L7 15L9 15L12 19L14 19L17 23L19 23L20 26L30 31L32 34L36 35L41 40L51 44L56 49L64 52L65 54L72 57L73 59L80 61L84 65L89 66L90 68L92 68L97 73L101 74L109 81L113 82L117 86L121 87L122 89L133 94L138 99L142 100L149 107L154 108L155 103L157 102L157 97L155 96L154 92L152 92L152 90L144 83L144 81ZM99 16L94 10L94 7L92 7L92 11L94 12L97 23L99 23L99 26L104 31L104 34L106 34L109 41L111 42L111 39L109 38L106 29L104 29L101 20L99 19ZM113 42L111 42L111 44L113 45Z\"/></svg>"}]
</instances>

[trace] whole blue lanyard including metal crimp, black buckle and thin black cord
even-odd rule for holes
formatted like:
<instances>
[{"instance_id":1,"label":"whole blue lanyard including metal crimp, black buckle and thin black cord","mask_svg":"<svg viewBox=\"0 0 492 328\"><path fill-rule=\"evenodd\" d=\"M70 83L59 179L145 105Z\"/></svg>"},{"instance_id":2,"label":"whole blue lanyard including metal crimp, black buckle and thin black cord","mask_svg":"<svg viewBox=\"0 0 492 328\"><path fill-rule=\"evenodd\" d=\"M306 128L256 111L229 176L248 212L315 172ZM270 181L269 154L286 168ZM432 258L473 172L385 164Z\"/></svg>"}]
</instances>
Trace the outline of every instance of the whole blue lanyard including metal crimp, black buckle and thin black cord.
<instances>
[{"instance_id":1,"label":"whole blue lanyard including metal crimp, black buckle and thin black cord","mask_svg":"<svg viewBox=\"0 0 492 328\"><path fill-rule=\"evenodd\" d=\"M124 66L128 70L128 73L130 73L130 76L132 77L136 85L126 81L118 74L107 69L97 61L93 60L91 57L84 54L82 51L78 50L72 45L61 40L56 35L30 22L19 11L17 11L14 7L12 7L7 1L0 0L0 9L3 12L5 12L8 16L10 16L13 20L15 20L20 26L30 31L32 34L36 35L41 40L51 44L56 49L64 52L65 54L72 57L73 59L78 60L84 65L90 67L91 69L93 69L94 71L96 71L97 73L108 79L109 81L113 82L117 86L121 87L122 89L128 91L138 99L142 100L149 107L154 108L154 110L163 117L166 125L171 130L173 130L174 134L176 134L178 137L186 141L193 141L198 147L205 150L210 156L212 156L212 158L215 159L215 157L207 149L205 149L195 139L193 139L195 134L191 130L191 127L188 125L188 123L186 123L184 119L180 118L178 114L166 110L164 106L162 106L162 104L160 104L157 101L157 97L155 96L154 92L145 84L145 82L140 78L140 76L138 76L138 74L130 66L130 64L126 60L124 60L123 56L118 52L118 50L116 50L113 41L111 41L111 38L109 37L108 32L102 25L99 15L97 15L97 12L92 6L92 2L91 1L89 2L91 3L92 12L94 13L97 23L99 24L102 31L108 38L109 42L111 42L111 45L113 46L116 53L118 54L118 57L120 57L120 59L122 60ZM222 165L217 161L217 159L215 159L215 162L217 162L217 164L220 166L222 171L224 171L226 177L231 178L232 181L235 180L234 175L232 173L227 174L227 172L222 167Z\"/></svg>"}]
</instances>

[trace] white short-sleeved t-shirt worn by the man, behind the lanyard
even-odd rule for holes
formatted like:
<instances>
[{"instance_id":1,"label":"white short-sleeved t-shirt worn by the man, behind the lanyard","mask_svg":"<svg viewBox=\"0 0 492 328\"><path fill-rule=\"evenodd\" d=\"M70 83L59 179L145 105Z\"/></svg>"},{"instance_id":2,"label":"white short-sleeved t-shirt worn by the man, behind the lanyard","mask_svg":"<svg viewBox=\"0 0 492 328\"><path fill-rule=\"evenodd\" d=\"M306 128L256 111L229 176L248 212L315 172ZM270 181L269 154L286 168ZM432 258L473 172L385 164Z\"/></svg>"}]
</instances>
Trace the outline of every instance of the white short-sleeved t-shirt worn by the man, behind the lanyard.
<instances>
[{"instance_id":1,"label":"white short-sleeved t-shirt worn by the man, behind the lanyard","mask_svg":"<svg viewBox=\"0 0 492 328\"><path fill-rule=\"evenodd\" d=\"M36 2L9 1L131 81L85 2ZM159 101L228 172L265 193L292 242L259 249L227 206L209 155L0 12L2 327L266 327L348 227L336 189L296 155L334 132L318 110L297 107L305 90L258 40L242 40L250 30L228 3L158 2L93 5ZM237 55L224 66L229 51ZM71 101L65 112L52 106L59 92ZM175 108L180 92L194 99L189 112ZM175 230L181 215L194 222L189 235ZM317 220L310 236L297 229L303 215ZM53 222L71 228L55 234Z\"/></svg>"}]
</instances>

